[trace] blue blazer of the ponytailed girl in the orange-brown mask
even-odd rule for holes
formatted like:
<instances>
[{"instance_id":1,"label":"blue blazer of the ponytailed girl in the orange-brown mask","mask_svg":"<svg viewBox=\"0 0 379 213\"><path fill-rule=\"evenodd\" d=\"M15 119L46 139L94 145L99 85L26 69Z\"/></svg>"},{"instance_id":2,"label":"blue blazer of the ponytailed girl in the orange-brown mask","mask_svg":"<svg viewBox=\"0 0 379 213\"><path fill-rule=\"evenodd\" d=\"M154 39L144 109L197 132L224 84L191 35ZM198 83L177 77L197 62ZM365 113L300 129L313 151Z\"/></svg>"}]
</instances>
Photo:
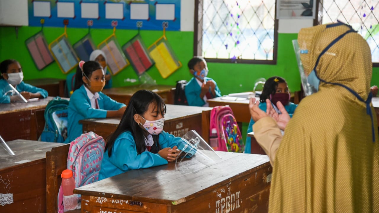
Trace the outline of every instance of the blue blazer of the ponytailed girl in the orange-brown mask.
<instances>
[{"instance_id":1,"label":"blue blazer of the ponytailed girl in the orange-brown mask","mask_svg":"<svg viewBox=\"0 0 379 213\"><path fill-rule=\"evenodd\" d=\"M67 139L65 143L70 143L83 133L83 125L79 124L80 120L105 118L106 111L119 110L119 108L125 107L124 103L116 102L102 92L98 93L99 109L91 107L91 100L88 98L84 85L72 93L68 107Z\"/></svg>"}]
</instances>

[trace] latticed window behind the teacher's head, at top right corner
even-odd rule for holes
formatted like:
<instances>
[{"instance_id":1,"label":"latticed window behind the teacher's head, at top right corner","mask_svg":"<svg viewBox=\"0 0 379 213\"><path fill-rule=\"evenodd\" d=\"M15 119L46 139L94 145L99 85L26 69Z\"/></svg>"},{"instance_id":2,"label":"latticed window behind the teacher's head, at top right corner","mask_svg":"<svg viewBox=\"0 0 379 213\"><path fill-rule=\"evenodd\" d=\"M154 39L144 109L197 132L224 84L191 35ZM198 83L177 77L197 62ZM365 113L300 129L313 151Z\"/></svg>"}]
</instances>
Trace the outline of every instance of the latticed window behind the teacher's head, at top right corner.
<instances>
[{"instance_id":1,"label":"latticed window behind the teacher's head, at top right corner","mask_svg":"<svg viewBox=\"0 0 379 213\"><path fill-rule=\"evenodd\" d=\"M367 41L373 66L379 66L379 0L319 0L315 24L348 23Z\"/></svg>"}]
</instances>

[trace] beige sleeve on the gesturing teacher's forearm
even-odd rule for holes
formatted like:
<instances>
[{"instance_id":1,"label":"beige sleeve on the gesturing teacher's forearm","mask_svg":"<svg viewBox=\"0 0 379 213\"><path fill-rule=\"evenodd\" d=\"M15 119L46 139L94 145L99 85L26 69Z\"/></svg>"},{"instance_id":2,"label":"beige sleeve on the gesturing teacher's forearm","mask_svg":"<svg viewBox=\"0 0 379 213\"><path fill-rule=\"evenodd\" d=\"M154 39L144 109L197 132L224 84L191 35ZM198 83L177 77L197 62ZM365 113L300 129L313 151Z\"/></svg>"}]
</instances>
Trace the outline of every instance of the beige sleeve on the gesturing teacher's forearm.
<instances>
[{"instance_id":1,"label":"beige sleeve on the gesturing teacher's forearm","mask_svg":"<svg viewBox=\"0 0 379 213\"><path fill-rule=\"evenodd\" d=\"M276 121L269 116L263 117L255 122L253 130L255 139L270 158L271 165L274 166L275 154L283 137Z\"/></svg>"}]
</instances>

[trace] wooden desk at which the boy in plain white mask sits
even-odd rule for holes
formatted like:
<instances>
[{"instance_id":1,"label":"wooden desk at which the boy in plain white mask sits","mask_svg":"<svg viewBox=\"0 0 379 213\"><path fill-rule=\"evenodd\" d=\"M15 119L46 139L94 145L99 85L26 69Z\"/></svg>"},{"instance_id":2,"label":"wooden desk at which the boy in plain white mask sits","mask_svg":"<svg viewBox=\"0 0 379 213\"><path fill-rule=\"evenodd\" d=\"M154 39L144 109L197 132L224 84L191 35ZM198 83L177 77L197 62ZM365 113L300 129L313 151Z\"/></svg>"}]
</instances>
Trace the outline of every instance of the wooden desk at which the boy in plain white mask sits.
<instances>
[{"instance_id":1,"label":"wooden desk at which the boy in plain white mask sits","mask_svg":"<svg viewBox=\"0 0 379 213\"><path fill-rule=\"evenodd\" d=\"M0 135L5 141L37 140L44 129L46 105L52 99L0 104Z\"/></svg>"}]
</instances>

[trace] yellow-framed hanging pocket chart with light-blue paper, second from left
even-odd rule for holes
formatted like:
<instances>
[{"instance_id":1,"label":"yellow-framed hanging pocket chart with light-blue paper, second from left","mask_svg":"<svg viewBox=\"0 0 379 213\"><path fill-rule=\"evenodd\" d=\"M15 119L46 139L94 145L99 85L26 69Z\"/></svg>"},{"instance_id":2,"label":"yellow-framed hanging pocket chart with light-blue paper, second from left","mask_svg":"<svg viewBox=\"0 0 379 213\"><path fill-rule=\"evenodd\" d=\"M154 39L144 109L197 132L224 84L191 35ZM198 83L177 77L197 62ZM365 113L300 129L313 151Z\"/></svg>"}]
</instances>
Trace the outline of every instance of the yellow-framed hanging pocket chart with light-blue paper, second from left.
<instances>
[{"instance_id":1,"label":"yellow-framed hanging pocket chart with light-blue paper, second from left","mask_svg":"<svg viewBox=\"0 0 379 213\"><path fill-rule=\"evenodd\" d=\"M49 44L49 49L64 74L67 74L78 65L78 56L67 40L66 26L64 27L64 33Z\"/></svg>"}]
</instances>

